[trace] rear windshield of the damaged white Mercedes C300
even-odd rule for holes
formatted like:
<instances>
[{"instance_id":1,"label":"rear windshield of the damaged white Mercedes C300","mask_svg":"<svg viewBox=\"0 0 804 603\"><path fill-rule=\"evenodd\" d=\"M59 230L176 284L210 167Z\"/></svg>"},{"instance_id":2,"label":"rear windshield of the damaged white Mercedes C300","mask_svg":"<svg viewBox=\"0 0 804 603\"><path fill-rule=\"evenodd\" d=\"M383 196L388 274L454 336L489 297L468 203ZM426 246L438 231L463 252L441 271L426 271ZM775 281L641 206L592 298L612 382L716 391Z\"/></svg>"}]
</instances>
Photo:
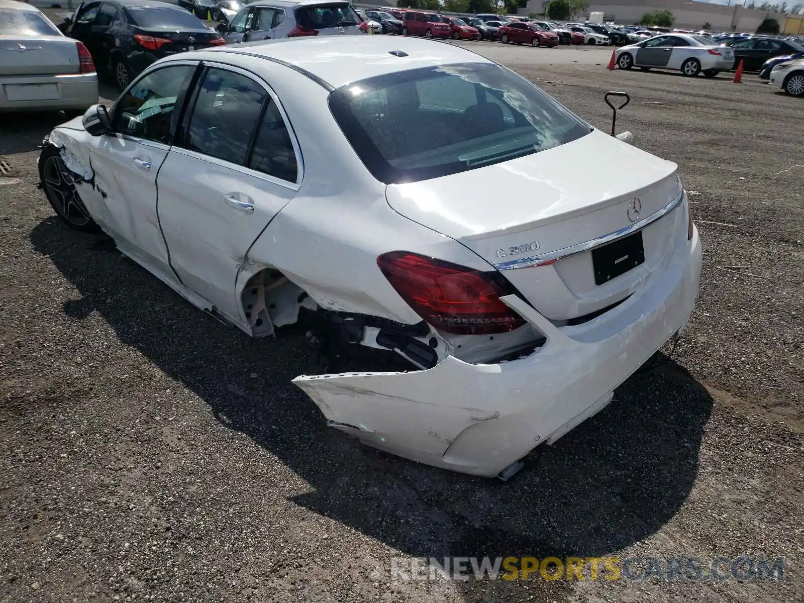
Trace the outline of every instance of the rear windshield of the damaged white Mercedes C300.
<instances>
[{"instance_id":1,"label":"rear windshield of the damaged white Mercedes C300","mask_svg":"<svg viewBox=\"0 0 804 603\"><path fill-rule=\"evenodd\" d=\"M495 64L411 69L347 84L330 110L371 174L403 183L538 153L592 131Z\"/></svg>"}]
</instances>

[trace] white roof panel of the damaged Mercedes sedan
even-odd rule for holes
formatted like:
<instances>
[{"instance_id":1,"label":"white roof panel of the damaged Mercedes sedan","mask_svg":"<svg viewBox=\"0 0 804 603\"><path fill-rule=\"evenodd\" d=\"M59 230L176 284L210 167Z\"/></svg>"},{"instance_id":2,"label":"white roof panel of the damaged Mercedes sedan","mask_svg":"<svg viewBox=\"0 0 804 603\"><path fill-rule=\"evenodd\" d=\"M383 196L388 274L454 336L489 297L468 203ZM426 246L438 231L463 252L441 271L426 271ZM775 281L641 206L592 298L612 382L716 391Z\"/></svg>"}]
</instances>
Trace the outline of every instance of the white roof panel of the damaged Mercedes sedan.
<instances>
[{"instance_id":1,"label":"white roof panel of the damaged Mercedes sedan","mask_svg":"<svg viewBox=\"0 0 804 603\"><path fill-rule=\"evenodd\" d=\"M392 55L401 51L407 56ZM206 49L204 55L239 53L285 63L340 88L356 80L422 67L493 61L463 47L400 35L321 35L245 42ZM187 59L191 53L174 55Z\"/></svg>"}]
</instances>

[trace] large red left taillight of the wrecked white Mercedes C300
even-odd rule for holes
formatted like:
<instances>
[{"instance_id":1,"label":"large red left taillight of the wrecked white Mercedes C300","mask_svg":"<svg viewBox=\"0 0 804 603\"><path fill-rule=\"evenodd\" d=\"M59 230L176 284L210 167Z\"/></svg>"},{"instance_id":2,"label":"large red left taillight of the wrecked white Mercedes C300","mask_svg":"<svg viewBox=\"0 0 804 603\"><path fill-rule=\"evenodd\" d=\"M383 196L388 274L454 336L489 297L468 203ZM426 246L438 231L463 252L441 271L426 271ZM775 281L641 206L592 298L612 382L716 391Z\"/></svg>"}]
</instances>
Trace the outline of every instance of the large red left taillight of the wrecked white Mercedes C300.
<instances>
[{"instance_id":1,"label":"large red left taillight of the wrecked white Mercedes C300","mask_svg":"<svg viewBox=\"0 0 804 603\"><path fill-rule=\"evenodd\" d=\"M493 334L525 324L486 273L411 252L384 253L377 265L408 306L438 330Z\"/></svg>"}]
</instances>

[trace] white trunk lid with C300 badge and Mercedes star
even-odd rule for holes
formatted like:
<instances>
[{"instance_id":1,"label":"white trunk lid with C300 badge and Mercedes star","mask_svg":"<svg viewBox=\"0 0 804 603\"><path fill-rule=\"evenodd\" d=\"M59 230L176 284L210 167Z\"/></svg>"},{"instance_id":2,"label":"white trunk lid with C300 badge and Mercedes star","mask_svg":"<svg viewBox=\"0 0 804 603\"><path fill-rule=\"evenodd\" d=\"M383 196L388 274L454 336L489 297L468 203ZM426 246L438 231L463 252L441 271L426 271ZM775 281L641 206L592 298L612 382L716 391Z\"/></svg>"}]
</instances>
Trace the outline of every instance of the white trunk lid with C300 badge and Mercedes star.
<instances>
[{"instance_id":1,"label":"white trunk lid with C300 badge and Mercedes star","mask_svg":"<svg viewBox=\"0 0 804 603\"><path fill-rule=\"evenodd\" d=\"M605 260L593 260L589 250L551 265L508 266L629 228L680 194L675 163L598 130L508 162L392 184L386 192L394 210L502 269L536 310L555 320L580 318L633 293L671 252L681 212L671 211L643 228L644 262L599 285L595 271ZM633 199L639 199L638 216ZM686 214L683 231L686 240Z\"/></svg>"}]
</instances>

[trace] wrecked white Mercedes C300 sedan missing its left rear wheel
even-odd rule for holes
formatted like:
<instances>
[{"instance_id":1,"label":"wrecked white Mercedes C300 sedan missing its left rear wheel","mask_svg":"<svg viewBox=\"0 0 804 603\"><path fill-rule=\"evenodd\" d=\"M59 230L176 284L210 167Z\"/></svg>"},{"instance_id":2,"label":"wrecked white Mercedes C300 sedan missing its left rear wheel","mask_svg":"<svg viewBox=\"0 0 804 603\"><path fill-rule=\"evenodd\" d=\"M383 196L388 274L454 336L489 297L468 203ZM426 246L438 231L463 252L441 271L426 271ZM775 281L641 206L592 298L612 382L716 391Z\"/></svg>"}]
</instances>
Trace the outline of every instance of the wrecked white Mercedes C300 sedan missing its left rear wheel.
<instances>
[{"instance_id":1,"label":"wrecked white Mercedes C300 sedan missing its left rear wheel","mask_svg":"<svg viewBox=\"0 0 804 603\"><path fill-rule=\"evenodd\" d=\"M466 474L508 478L605 407L698 295L675 163L430 40L162 59L55 128L39 173L64 221L246 334L406 363L293 383L328 425Z\"/></svg>"}]
</instances>

